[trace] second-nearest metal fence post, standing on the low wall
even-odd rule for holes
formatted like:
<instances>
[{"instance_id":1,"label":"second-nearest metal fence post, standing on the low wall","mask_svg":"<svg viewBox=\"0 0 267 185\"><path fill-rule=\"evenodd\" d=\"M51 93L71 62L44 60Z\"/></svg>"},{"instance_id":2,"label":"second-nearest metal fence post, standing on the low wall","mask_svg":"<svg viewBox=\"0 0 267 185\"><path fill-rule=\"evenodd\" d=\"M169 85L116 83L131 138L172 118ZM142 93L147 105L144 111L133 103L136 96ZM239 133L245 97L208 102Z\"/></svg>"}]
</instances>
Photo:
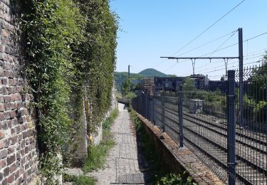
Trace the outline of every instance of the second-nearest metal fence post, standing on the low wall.
<instances>
[{"instance_id":1,"label":"second-nearest metal fence post, standing on the low wall","mask_svg":"<svg viewBox=\"0 0 267 185\"><path fill-rule=\"evenodd\" d=\"M183 134L183 100L182 100L182 85L179 85L178 90L178 114L179 114L179 140L180 148L184 147L184 134Z\"/></svg>"}]
</instances>

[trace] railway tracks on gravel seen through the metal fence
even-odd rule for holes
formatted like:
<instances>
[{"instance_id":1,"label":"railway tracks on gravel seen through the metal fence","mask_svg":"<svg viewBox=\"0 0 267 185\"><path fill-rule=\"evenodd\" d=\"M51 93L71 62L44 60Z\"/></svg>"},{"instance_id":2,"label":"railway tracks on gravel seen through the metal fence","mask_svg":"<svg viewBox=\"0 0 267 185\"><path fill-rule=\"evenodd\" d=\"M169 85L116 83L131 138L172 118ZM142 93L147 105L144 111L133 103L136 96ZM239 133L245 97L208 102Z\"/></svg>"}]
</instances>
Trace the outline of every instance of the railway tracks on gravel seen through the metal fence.
<instances>
[{"instance_id":1,"label":"railway tracks on gravel seen through the metal fence","mask_svg":"<svg viewBox=\"0 0 267 185\"><path fill-rule=\"evenodd\" d=\"M160 108L156 107L156 109L160 114ZM178 142L177 118L177 111L165 106L166 131ZM219 170L215 172L225 181L228 169L226 125L217 125L186 112L184 112L183 119L184 143L187 147L197 149L198 155L202 155L201 158L209 157L215 162L214 164L218 164ZM241 130L236 132L236 176L242 184L267 184L266 140L264 140L266 137L261 136L259 139L258 135L247 132L246 134ZM204 159L204 161L209 159Z\"/></svg>"}]
</instances>

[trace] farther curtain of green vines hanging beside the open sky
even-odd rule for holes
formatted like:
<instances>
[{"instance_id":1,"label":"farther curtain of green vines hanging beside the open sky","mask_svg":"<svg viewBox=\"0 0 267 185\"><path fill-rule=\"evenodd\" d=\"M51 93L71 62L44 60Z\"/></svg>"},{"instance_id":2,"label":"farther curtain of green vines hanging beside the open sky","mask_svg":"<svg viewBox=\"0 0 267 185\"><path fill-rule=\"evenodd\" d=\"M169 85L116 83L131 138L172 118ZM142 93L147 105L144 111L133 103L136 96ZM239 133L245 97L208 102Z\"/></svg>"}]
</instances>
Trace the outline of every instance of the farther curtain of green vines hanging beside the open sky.
<instances>
[{"instance_id":1,"label":"farther curtain of green vines hanging beside the open sky","mask_svg":"<svg viewBox=\"0 0 267 185\"><path fill-rule=\"evenodd\" d=\"M110 12L108 0L75 0L85 18L85 40L80 45L78 65L84 85L88 115L88 133L96 127L110 108L117 47L117 15ZM90 106L89 106L90 105ZM89 113L87 111L87 113Z\"/></svg>"}]
</instances>

